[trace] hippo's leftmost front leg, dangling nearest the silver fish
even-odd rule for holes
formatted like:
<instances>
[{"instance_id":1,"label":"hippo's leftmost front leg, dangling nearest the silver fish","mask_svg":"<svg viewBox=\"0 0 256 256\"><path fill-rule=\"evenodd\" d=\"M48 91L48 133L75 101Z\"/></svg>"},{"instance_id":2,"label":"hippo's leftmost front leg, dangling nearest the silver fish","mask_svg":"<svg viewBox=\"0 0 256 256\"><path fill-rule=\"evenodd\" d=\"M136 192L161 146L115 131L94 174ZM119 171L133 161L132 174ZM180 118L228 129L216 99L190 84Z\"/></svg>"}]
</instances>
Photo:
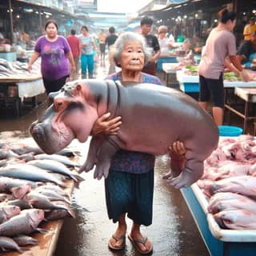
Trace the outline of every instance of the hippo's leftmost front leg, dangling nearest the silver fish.
<instances>
[{"instance_id":1,"label":"hippo's leftmost front leg, dangling nearest the silver fish","mask_svg":"<svg viewBox=\"0 0 256 256\"><path fill-rule=\"evenodd\" d=\"M84 170L88 172L89 170L92 170L94 168L94 165L97 162L97 153L99 148L102 146L103 141L104 141L104 137L102 135L94 136L90 140L90 146L89 146L86 162L78 170L79 173L82 173L82 171Z\"/></svg>"}]
</instances>

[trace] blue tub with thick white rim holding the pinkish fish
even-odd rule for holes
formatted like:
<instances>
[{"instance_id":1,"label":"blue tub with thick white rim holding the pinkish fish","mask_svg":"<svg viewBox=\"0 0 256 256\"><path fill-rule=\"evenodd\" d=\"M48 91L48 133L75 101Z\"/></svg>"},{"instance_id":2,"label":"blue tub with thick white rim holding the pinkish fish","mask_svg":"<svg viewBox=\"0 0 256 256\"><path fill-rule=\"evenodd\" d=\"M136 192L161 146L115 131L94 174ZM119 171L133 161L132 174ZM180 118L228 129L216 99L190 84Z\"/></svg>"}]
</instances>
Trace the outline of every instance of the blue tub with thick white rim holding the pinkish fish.
<instances>
[{"instance_id":1,"label":"blue tub with thick white rim holding the pinkish fish","mask_svg":"<svg viewBox=\"0 0 256 256\"><path fill-rule=\"evenodd\" d=\"M220 228L213 215L208 213L208 202L196 183L181 192L211 256L255 255L255 230Z\"/></svg>"}]
</instances>

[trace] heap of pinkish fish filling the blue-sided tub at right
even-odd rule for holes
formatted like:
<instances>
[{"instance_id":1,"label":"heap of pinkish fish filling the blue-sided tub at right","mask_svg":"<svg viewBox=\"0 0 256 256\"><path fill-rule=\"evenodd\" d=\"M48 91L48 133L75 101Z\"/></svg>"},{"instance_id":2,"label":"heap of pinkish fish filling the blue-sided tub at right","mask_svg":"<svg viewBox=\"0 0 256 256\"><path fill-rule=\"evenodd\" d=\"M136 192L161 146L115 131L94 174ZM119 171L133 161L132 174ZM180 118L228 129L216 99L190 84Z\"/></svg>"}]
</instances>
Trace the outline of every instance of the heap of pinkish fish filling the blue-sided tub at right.
<instances>
[{"instance_id":1,"label":"heap of pinkish fish filling the blue-sided tub at right","mask_svg":"<svg viewBox=\"0 0 256 256\"><path fill-rule=\"evenodd\" d=\"M208 211L219 226L255 230L256 138L220 138L204 164L205 172L197 184L209 199Z\"/></svg>"}]
</instances>

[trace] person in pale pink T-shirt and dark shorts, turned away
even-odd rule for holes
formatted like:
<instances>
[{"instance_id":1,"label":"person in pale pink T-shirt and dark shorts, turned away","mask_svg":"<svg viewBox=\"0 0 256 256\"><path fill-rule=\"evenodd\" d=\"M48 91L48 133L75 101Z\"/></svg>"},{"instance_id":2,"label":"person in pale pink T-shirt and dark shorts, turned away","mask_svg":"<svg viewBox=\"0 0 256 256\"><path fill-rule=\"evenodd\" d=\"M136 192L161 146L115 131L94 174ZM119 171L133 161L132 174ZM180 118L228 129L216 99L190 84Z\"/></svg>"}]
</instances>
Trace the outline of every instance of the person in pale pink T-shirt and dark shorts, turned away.
<instances>
[{"instance_id":1,"label":"person in pale pink T-shirt and dark shorts, turned away","mask_svg":"<svg viewBox=\"0 0 256 256\"><path fill-rule=\"evenodd\" d=\"M243 80L248 74L242 69L236 56L235 38L232 30L236 22L236 14L227 9L218 12L218 26L210 31L206 46L202 50L202 58L198 66L199 74L199 105L206 110L210 96L213 100L213 117L217 126L223 122L224 85L223 72L226 58L238 69Z\"/></svg>"}]
</instances>

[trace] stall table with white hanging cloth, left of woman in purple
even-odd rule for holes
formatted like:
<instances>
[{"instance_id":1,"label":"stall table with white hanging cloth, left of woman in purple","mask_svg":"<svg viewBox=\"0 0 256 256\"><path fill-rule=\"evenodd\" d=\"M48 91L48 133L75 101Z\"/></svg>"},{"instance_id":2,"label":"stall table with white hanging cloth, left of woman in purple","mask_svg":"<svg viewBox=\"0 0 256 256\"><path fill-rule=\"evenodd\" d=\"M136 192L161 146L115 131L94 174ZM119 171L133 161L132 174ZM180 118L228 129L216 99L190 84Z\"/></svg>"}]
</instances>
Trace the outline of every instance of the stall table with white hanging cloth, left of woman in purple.
<instances>
[{"instance_id":1,"label":"stall table with white hanging cloth, left of woman in purple","mask_svg":"<svg viewBox=\"0 0 256 256\"><path fill-rule=\"evenodd\" d=\"M11 107L19 117L23 99L34 98L35 102L35 97L44 92L41 75L29 78L0 78L0 108Z\"/></svg>"}]
</instances>

